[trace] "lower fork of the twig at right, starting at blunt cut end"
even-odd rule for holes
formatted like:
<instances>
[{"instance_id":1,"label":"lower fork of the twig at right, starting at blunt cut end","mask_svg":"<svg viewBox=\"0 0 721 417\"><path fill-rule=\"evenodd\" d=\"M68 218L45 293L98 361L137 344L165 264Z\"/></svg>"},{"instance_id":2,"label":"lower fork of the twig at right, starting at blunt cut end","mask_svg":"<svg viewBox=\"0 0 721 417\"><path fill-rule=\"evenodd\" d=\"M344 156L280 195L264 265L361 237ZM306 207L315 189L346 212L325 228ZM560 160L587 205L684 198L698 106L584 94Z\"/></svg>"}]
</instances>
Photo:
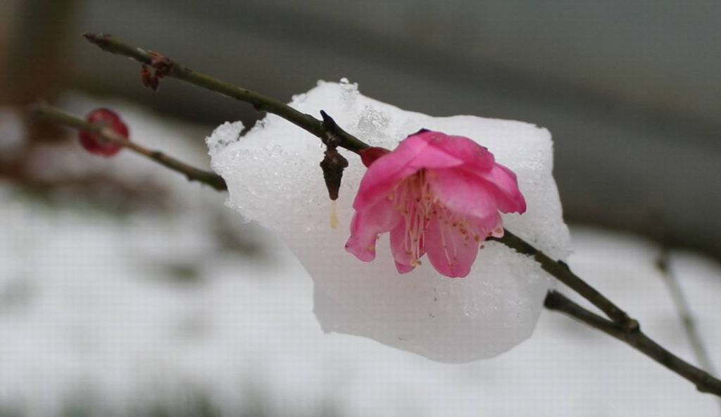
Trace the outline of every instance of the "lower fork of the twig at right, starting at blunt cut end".
<instances>
[{"instance_id":1,"label":"lower fork of the twig at right, starting at blunt cut end","mask_svg":"<svg viewBox=\"0 0 721 417\"><path fill-rule=\"evenodd\" d=\"M645 335L640 329L629 330L623 328L616 322L606 320L600 315L586 310L557 291L549 291L544 306L549 310L569 315L592 328L601 330L603 333L611 335L619 339L619 341L632 346L642 352L642 354L645 354L670 369L672 372L688 379L696 385L696 389L700 392L708 392L709 394L721 396L721 381L719 379L712 377L704 370L696 368L696 366L689 364L684 361L684 359L667 351L663 346L660 346Z\"/></svg>"}]
</instances>

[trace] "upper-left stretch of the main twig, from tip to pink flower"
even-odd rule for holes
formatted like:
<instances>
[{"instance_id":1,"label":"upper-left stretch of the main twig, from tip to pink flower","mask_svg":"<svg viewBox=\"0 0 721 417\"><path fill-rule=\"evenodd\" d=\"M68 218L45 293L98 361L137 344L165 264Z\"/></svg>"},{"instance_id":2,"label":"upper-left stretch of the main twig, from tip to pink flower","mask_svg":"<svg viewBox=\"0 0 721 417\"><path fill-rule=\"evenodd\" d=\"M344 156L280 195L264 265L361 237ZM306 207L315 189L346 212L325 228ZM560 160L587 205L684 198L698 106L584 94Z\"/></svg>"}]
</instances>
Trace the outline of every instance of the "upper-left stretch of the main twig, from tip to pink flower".
<instances>
[{"instance_id":1,"label":"upper-left stretch of the main twig, from tip to pink flower","mask_svg":"<svg viewBox=\"0 0 721 417\"><path fill-rule=\"evenodd\" d=\"M356 154L369 147L368 144L337 126L327 114L323 114L323 120L318 120L311 115L299 112L284 102L223 82L213 76L193 71L166 56L128 45L111 35L97 33L84 33L83 35L94 45L102 48L103 51L127 56L144 65L151 66L155 69L156 74L159 74L160 78L169 76L180 79L200 88L209 89L226 97L252 104L257 110L279 115L281 118L314 134L324 144L340 146Z\"/></svg>"}]
</instances>

